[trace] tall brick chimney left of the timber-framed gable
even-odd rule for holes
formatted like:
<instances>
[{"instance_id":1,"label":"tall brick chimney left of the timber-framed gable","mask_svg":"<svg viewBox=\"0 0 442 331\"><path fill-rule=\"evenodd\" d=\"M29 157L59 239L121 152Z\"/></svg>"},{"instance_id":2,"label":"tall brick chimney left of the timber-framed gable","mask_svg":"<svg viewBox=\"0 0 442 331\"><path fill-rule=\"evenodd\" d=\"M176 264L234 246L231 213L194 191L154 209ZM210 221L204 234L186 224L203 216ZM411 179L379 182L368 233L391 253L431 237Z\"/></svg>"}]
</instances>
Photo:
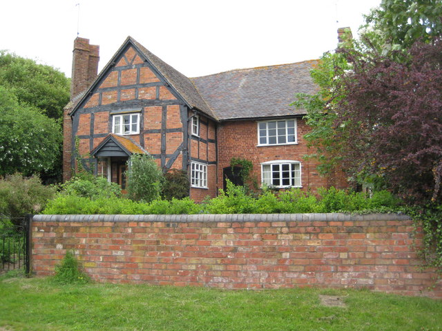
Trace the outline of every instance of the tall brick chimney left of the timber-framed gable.
<instances>
[{"instance_id":1,"label":"tall brick chimney left of the timber-framed gable","mask_svg":"<svg viewBox=\"0 0 442 331\"><path fill-rule=\"evenodd\" d=\"M89 39L75 38L72 83L70 86L70 99L83 92L97 78L99 61L99 46L90 45Z\"/></svg>"}]
</instances>

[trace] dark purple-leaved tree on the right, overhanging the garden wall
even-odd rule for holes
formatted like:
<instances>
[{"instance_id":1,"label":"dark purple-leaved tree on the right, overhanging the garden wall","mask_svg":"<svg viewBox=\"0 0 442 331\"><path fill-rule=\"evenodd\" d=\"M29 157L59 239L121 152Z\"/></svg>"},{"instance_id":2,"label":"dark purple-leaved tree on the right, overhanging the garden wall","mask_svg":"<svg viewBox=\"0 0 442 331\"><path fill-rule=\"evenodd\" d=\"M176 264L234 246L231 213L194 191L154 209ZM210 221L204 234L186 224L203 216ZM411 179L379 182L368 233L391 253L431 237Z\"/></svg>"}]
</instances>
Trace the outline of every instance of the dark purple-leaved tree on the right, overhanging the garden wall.
<instances>
[{"instance_id":1,"label":"dark purple-leaved tree on the right, overhanging the garden wall","mask_svg":"<svg viewBox=\"0 0 442 331\"><path fill-rule=\"evenodd\" d=\"M345 52L345 50L343 50ZM376 174L408 201L441 201L442 39L417 41L407 61L345 54L333 127L344 168Z\"/></svg>"}]
</instances>

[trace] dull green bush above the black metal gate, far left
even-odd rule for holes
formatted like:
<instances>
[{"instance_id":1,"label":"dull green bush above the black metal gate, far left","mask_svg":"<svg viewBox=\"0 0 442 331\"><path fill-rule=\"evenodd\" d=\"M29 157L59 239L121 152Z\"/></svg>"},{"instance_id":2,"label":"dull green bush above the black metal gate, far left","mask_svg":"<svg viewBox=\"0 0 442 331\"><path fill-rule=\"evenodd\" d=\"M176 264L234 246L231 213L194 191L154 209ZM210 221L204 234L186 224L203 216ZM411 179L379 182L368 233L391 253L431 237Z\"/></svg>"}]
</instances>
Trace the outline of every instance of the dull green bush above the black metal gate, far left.
<instances>
[{"instance_id":1,"label":"dull green bush above the black metal gate, far left","mask_svg":"<svg viewBox=\"0 0 442 331\"><path fill-rule=\"evenodd\" d=\"M0 214L24 217L40 212L49 199L55 197L56 188L45 186L38 177L12 174L0 180Z\"/></svg>"}]
</instances>

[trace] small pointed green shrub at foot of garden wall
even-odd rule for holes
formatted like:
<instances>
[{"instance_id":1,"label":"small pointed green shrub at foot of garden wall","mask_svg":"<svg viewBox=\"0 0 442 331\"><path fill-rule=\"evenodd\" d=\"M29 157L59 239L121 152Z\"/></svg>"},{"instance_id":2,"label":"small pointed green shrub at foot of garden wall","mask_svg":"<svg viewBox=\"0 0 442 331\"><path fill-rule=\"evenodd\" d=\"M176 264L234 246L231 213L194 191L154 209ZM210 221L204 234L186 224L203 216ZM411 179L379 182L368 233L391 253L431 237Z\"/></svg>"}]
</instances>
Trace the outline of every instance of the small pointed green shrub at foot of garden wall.
<instances>
[{"instance_id":1,"label":"small pointed green shrub at foot of garden wall","mask_svg":"<svg viewBox=\"0 0 442 331\"><path fill-rule=\"evenodd\" d=\"M55 267L54 281L61 285L86 284L89 282L89 277L80 270L74 254L67 251L61 265Z\"/></svg>"}]
</instances>

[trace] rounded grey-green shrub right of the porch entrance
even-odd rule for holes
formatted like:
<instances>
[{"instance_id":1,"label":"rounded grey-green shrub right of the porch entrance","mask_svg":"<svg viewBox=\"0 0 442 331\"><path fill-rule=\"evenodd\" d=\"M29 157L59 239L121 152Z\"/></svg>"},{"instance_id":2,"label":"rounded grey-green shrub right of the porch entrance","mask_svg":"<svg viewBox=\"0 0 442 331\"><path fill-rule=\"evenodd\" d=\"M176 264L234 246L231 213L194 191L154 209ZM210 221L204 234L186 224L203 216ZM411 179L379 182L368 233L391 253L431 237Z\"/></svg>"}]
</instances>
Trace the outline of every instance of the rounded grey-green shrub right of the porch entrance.
<instances>
[{"instance_id":1,"label":"rounded grey-green shrub right of the porch entrance","mask_svg":"<svg viewBox=\"0 0 442 331\"><path fill-rule=\"evenodd\" d=\"M164 177L153 157L133 154L128 160L128 197L135 201L150 202L160 198Z\"/></svg>"}]
</instances>

